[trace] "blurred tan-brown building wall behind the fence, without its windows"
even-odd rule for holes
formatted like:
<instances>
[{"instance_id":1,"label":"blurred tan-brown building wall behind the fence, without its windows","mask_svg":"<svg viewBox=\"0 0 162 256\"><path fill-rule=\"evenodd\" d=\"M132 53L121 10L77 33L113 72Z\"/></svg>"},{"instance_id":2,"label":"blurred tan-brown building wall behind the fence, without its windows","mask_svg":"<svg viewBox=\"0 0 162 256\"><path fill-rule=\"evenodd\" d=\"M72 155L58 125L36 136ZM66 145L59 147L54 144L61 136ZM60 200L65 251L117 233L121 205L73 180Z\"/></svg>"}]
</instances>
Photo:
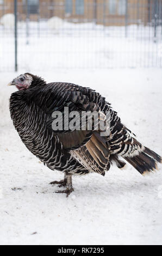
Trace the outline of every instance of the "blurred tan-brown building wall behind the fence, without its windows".
<instances>
[{"instance_id":1,"label":"blurred tan-brown building wall behind the fence, without its windows","mask_svg":"<svg viewBox=\"0 0 162 256\"><path fill-rule=\"evenodd\" d=\"M119 15L117 11L111 15L109 13L110 0L84 0L84 14L76 14L76 0L72 0L72 14L65 13L65 0L40 0L39 15L30 14L30 20L49 19L58 16L71 22L96 22L105 26L123 26L126 24L142 23L146 25L149 20L148 3L153 0L127 0L128 11L126 15ZM114 0L119 1L119 0ZM161 1L161 0L160 0ZM0 0L0 17L7 13L14 13L14 0ZM26 9L22 0L18 2L18 17L20 20L26 19ZM162 1L161 1L162 2Z\"/></svg>"}]
</instances>

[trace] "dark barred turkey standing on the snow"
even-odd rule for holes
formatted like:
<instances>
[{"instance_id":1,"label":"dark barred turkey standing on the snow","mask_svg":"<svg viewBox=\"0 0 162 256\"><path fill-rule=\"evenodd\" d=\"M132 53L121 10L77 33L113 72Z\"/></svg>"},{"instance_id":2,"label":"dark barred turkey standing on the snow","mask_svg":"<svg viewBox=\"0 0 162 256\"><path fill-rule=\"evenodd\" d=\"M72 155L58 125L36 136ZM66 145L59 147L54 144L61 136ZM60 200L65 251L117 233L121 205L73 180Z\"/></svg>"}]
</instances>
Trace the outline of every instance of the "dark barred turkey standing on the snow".
<instances>
[{"instance_id":1,"label":"dark barred turkey standing on the snow","mask_svg":"<svg viewBox=\"0 0 162 256\"><path fill-rule=\"evenodd\" d=\"M64 173L63 180L50 183L65 186L58 193L68 196L73 191L72 175L96 172L104 176L113 163L123 168L123 160L146 174L161 162L158 154L135 139L110 103L95 90L73 83L46 83L29 73L9 85L18 89L10 97L10 115L22 142L47 167ZM75 120L73 112L79 113ZM87 117L82 122L80 114L87 112L97 113L98 126L95 115L91 126Z\"/></svg>"}]
</instances>

